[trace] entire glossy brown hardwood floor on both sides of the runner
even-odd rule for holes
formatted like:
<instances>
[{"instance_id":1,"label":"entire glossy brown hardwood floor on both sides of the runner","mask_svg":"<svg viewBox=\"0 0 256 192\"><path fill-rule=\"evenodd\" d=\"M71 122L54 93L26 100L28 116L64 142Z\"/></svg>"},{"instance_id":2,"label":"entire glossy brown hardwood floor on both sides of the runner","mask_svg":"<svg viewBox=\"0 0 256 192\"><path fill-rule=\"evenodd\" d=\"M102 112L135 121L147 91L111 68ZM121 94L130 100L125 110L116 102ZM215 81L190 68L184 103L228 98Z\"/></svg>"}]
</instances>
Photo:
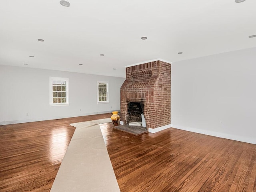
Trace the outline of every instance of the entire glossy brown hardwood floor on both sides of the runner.
<instances>
[{"instance_id":1,"label":"entire glossy brown hardwood floor on both sides of the runner","mask_svg":"<svg viewBox=\"0 0 256 192\"><path fill-rule=\"evenodd\" d=\"M49 192L75 130L69 123L110 116L0 126L0 192ZM121 192L256 192L254 144L174 128L101 130Z\"/></svg>"}]
</instances>

